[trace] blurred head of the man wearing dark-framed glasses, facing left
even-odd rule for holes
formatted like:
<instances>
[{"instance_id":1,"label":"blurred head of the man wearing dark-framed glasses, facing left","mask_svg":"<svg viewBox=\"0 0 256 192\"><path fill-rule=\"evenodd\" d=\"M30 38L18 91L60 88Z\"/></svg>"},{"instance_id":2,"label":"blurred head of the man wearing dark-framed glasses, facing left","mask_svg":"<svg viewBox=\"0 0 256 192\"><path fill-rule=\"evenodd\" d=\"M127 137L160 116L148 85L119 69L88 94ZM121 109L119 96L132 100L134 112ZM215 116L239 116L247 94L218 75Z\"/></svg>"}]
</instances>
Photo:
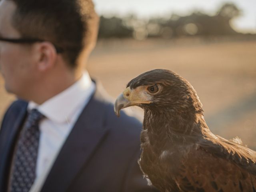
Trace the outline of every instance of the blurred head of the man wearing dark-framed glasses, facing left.
<instances>
[{"instance_id":1,"label":"blurred head of the man wearing dark-framed glasses, facing left","mask_svg":"<svg viewBox=\"0 0 256 192\"><path fill-rule=\"evenodd\" d=\"M0 39L6 90L31 99L50 78L63 75L64 81L64 67L74 71L86 62L97 30L92 0L1 0L0 38L40 40L13 43Z\"/></svg>"}]
</instances>

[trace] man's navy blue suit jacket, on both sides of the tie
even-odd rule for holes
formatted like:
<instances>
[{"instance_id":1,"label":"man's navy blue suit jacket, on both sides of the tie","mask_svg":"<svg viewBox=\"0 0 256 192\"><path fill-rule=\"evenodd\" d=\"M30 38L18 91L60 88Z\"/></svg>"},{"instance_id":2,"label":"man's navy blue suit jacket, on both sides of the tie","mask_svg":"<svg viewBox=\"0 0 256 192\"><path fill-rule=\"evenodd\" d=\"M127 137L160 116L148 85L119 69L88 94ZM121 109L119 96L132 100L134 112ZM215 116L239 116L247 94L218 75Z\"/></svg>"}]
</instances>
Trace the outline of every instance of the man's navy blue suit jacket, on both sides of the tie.
<instances>
[{"instance_id":1,"label":"man's navy blue suit jacket, on both sides of the tie","mask_svg":"<svg viewBox=\"0 0 256 192\"><path fill-rule=\"evenodd\" d=\"M18 132L27 102L15 101L0 130L0 192L8 184ZM68 106L67 106L68 107ZM140 131L135 118L114 114L113 105L97 88L70 132L41 192L156 191L139 169Z\"/></svg>"}]
</instances>

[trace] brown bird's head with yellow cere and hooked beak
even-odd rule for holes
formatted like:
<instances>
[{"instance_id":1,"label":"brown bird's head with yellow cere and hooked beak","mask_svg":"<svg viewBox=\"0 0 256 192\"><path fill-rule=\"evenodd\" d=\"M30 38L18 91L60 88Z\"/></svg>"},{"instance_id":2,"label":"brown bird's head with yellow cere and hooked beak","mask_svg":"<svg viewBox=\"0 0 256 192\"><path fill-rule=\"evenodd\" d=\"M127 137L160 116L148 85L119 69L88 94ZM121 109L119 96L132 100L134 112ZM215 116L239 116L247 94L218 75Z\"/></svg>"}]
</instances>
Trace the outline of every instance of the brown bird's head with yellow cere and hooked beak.
<instances>
[{"instance_id":1,"label":"brown bird's head with yellow cere and hooked beak","mask_svg":"<svg viewBox=\"0 0 256 192\"><path fill-rule=\"evenodd\" d=\"M155 69L132 79L126 90L118 96L114 111L129 106L139 106L154 112L202 114L202 104L191 84L178 74L164 69Z\"/></svg>"}]
</instances>

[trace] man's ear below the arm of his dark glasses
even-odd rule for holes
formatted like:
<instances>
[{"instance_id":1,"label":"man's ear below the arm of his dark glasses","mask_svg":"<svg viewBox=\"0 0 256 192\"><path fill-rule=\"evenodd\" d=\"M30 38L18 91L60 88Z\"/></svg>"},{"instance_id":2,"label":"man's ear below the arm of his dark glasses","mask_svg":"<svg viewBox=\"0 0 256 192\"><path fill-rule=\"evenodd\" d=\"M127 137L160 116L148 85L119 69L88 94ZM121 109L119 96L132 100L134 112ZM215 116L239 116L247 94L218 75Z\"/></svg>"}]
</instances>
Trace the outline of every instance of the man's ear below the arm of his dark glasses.
<instances>
[{"instance_id":1,"label":"man's ear below the arm of his dark glasses","mask_svg":"<svg viewBox=\"0 0 256 192\"><path fill-rule=\"evenodd\" d=\"M39 54L37 68L40 71L46 71L52 68L57 59L57 53L54 45L50 42L40 42L37 45Z\"/></svg>"}]
</instances>

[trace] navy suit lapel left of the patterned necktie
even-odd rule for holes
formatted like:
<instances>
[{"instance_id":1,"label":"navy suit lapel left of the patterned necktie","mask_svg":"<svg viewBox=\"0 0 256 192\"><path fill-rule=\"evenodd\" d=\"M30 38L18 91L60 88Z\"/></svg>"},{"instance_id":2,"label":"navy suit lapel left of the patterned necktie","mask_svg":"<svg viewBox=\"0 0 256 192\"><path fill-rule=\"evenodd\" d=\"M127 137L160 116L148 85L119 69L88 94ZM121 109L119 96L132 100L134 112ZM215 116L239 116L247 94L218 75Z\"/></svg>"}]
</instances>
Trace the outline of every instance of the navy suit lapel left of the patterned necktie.
<instances>
[{"instance_id":1,"label":"navy suit lapel left of the patterned necktie","mask_svg":"<svg viewBox=\"0 0 256 192\"><path fill-rule=\"evenodd\" d=\"M8 122L3 122L0 134L0 191L8 182L8 172L12 160L15 140L27 114L27 103L19 101L16 109L12 109L12 114L8 114ZM20 107L20 108L18 108Z\"/></svg>"}]
</instances>

